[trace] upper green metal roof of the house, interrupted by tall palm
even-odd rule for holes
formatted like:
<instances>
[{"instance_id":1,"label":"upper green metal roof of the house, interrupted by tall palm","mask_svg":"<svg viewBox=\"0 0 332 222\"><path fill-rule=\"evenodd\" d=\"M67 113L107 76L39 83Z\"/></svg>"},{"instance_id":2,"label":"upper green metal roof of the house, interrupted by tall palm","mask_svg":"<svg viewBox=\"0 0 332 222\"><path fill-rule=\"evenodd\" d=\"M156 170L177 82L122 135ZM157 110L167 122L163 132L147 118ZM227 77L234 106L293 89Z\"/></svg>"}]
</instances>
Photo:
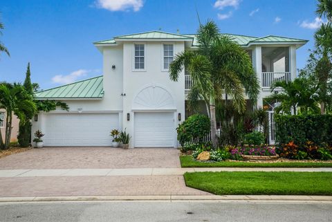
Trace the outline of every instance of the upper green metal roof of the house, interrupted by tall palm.
<instances>
[{"instance_id":1,"label":"upper green metal roof of the house, interrupted by tall palm","mask_svg":"<svg viewBox=\"0 0 332 222\"><path fill-rule=\"evenodd\" d=\"M247 35L233 35L233 34L221 34L232 37L234 41L237 41L241 46L248 46L250 44L265 44L265 43L300 43L305 44L307 40L304 39L294 39L288 37L281 37L275 35L268 35L266 37L252 37ZM196 35L194 34L174 34L174 33L165 33L161 31L151 31L146 33L136 33L131 35L120 35L114 39L108 39L104 41L96 41L94 44L116 44L116 40L121 39L183 39L183 40L192 40L192 46L198 46Z\"/></svg>"}]
</instances>

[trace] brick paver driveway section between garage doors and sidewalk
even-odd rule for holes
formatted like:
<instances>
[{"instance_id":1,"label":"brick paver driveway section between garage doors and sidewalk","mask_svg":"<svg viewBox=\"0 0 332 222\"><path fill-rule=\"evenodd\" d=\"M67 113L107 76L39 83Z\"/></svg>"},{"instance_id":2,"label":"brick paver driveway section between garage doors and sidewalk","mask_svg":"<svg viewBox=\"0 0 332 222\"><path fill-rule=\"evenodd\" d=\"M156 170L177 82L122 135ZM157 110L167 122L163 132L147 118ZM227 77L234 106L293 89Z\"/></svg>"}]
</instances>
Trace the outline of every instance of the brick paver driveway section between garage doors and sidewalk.
<instances>
[{"instance_id":1,"label":"brick paver driveway section between garage doors and sidewalk","mask_svg":"<svg viewBox=\"0 0 332 222\"><path fill-rule=\"evenodd\" d=\"M0 158L0 169L181 167L172 148L46 147Z\"/></svg>"}]
</instances>

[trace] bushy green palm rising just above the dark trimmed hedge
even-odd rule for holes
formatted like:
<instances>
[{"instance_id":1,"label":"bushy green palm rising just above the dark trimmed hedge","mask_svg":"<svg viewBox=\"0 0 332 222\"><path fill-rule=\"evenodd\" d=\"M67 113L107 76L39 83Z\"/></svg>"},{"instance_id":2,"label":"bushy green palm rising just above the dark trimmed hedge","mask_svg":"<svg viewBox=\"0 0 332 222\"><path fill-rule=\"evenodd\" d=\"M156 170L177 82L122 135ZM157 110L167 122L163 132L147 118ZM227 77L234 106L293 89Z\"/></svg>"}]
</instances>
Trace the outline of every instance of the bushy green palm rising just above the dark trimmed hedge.
<instances>
[{"instance_id":1,"label":"bushy green palm rising just above the dark trimmed hedge","mask_svg":"<svg viewBox=\"0 0 332 222\"><path fill-rule=\"evenodd\" d=\"M287 113L295 115L297 107L301 113L319 113L318 106L319 95L317 94L317 84L313 84L311 80L304 77L296 78L293 82L276 82L272 91L280 87L281 93L273 93L266 98L268 102L281 102L278 107L275 107L276 113Z\"/></svg>"}]
</instances>

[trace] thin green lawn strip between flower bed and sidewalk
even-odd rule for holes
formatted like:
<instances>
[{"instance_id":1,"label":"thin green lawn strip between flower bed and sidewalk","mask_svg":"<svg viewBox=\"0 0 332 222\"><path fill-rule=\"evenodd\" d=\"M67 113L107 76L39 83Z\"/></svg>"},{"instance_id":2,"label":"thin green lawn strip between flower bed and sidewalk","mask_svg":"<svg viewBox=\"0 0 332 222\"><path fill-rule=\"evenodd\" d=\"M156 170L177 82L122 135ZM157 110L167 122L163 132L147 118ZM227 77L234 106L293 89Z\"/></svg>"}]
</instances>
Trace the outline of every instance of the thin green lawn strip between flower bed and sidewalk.
<instances>
[{"instance_id":1,"label":"thin green lawn strip between flower bed and sidewalk","mask_svg":"<svg viewBox=\"0 0 332 222\"><path fill-rule=\"evenodd\" d=\"M192 156L180 156L181 167L332 167L332 162L326 163L252 163L252 162L199 162Z\"/></svg>"}]
</instances>

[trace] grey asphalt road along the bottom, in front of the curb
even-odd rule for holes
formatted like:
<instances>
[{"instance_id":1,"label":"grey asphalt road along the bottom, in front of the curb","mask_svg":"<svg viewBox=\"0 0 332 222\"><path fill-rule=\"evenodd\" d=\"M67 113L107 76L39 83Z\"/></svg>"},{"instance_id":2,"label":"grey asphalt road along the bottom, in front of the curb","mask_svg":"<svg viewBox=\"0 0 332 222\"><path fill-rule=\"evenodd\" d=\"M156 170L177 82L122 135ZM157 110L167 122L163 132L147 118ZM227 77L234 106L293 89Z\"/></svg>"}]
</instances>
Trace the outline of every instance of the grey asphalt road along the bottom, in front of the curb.
<instances>
[{"instance_id":1,"label":"grey asphalt road along the bottom, in front of the curb","mask_svg":"<svg viewBox=\"0 0 332 222\"><path fill-rule=\"evenodd\" d=\"M0 221L332 221L331 203L0 203Z\"/></svg>"}]
</instances>

